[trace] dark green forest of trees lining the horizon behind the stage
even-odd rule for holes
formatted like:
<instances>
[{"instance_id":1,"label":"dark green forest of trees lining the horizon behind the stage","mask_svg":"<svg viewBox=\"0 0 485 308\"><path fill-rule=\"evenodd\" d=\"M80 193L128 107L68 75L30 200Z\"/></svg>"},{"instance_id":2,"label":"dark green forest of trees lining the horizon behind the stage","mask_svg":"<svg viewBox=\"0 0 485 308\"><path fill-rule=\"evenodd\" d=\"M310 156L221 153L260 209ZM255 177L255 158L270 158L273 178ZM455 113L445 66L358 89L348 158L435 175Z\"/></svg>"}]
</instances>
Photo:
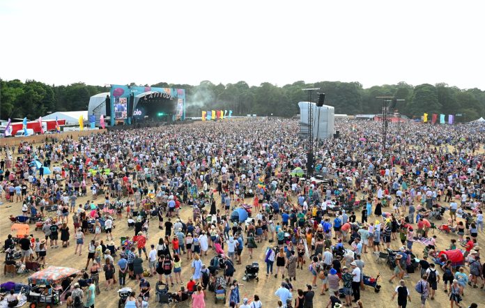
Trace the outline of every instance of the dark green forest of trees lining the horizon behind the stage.
<instances>
[{"instance_id":1,"label":"dark green forest of trees lining the horizon behind the stage","mask_svg":"<svg viewBox=\"0 0 485 308\"><path fill-rule=\"evenodd\" d=\"M18 79L1 80L0 86L0 118L3 120L24 116L34 119L55 111L87 110L92 95L109 91L109 87L82 82L56 86ZM246 82L224 85L203 81L197 86L167 82L144 86L184 88L186 116L200 116L202 110L212 109L231 109L234 116L295 116L299 113L298 102L308 100L308 94L302 88L320 88L318 92L325 93L325 105L334 106L336 114L378 114L382 109L382 100L376 97L394 96L399 100L396 109L410 118L419 118L424 113L455 114L456 121L485 117L485 91L479 88L461 89L447 84L413 86L399 82L363 88L359 82L306 84L300 81L284 86L264 82L259 86L249 86ZM317 99L318 95L314 93L313 101Z\"/></svg>"}]
</instances>

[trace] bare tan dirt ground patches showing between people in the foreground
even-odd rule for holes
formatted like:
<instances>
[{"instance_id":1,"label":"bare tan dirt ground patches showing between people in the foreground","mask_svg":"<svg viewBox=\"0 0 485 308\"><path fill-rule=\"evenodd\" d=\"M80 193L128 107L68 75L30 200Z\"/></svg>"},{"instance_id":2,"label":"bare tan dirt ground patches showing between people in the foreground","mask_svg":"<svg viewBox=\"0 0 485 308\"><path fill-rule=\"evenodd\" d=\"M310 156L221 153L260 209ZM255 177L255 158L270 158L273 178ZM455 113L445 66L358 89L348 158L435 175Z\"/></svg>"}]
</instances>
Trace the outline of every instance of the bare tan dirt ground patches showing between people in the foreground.
<instances>
[{"instance_id":1,"label":"bare tan dirt ground patches showing between people in the foreground","mask_svg":"<svg viewBox=\"0 0 485 308\"><path fill-rule=\"evenodd\" d=\"M77 203L84 203L88 197L81 197L77 200ZM102 197L98 198L102 199ZM4 199L2 201L5 201ZM218 202L217 204L219 204ZM2 217L2 222L0 224L0 238L2 240L2 245L3 245L3 240L6 238L8 233L10 233L10 220L8 220L9 215L20 215L21 213L21 204L20 203L3 203L3 205L0 206L0 217ZM387 209L383 209L383 211L390 211ZM188 207L183 208L181 211L180 217L182 217L183 220L187 220L188 217L192 215L192 210ZM359 213L357 213L357 220L360 220ZM445 220L448 218L447 213L445 214ZM443 220L443 221L445 221ZM148 240L147 240L147 247L150 246L150 244L155 244L157 243L158 239L162 236L164 236L164 230L160 230L157 228L157 219L153 218L151 220L151 225L150 229L148 232ZM441 222L436 222L437 225L439 225ZM128 229L128 226L125 222L125 220L116 220L115 221L116 229L114 229L113 236L115 239L116 245L119 245L119 238L121 236L132 236L133 235L133 230ZM49 249L47 250L47 261L46 261L46 266L49 265L57 265L57 266L68 266L71 268L79 268L83 269L84 265L86 264L86 256L87 256L87 248L86 245L83 247L83 254L82 256L77 256L74 254L74 249L75 249L75 241L72 240L72 234L73 234L73 227L72 223L70 222L69 224L70 231L71 231L71 241L70 241L70 246L67 248L62 248L59 247L58 249ZM43 238L43 233L42 231L33 231L35 229L35 226L31 224L31 233L36 238ZM432 234L432 233L431 233ZM440 233L438 230L434 232L434 235L438 236L438 249L445 249L449 245L449 240L452 239L456 235L446 235L443 233ZM93 238L93 234L89 234L86 236L85 242L87 243L89 240ZM398 236L399 238L399 236ZM104 238L102 238L104 239ZM484 233L479 233L478 237L478 242L481 247L485 247L485 235ZM258 294L261 298L261 301L263 302L263 307L277 307L277 297L275 296L275 291L277 290L279 284L282 282L281 278L275 279L275 277L265 277L265 263L264 263L264 258L265 258L265 248L268 247L269 243L268 242L263 242L259 244L258 249L255 250L254 253L254 259L249 260L249 254L247 249L244 249L242 253L242 265L236 265L236 273L235 273L235 279L238 279L238 281L243 284L244 286L240 287L240 295L241 299L247 296L248 298L252 298L252 295ZM394 240L391 243L392 249L399 249L400 247L400 242L399 240ZM420 243L415 243L413 246L413 249L415 252L417 252L418 257L422 256L422 249L424 248L424 245ZM209 263L210 259L214 256L214 252L209 251L208 256L203 256L202 261L206 264ZM3 256L1 256L3 259ZM373 289L367 287L366 291L361 292L361 300L363 302L363 307L397 307L397 300L395 299L394 302L391 301L392 293L394 291L394 288L397 286L397 280L394 279L393 284L389 284L387 280L390 278L392 275L392 271L383 264L378 264L376 263L376 256L374 254L363 254L362 255L362 260L365 262L365 268L364 268L364 273L366 275L369 275L371 277L376 277L378 273L380 272L380 280L379 284L382 285L380 293L374 293ZM250 282L243 282L242 277L244 275L244 268L245 265L251 263L252 261L258 261L261 267L261 272L259 275L259 282L256 282L255 280L252 280ZM308 265L308 263L307 263ZM297 270L297 281L293 283L293 286L296 289L302 288L305 289L305 285L309 284L311 282L311 274L307 269L307 265L303 267L302 270ZM147 261L144 261L144 268L148 268L148 263ZM190 261L187 261L185 258L183 259L182 262L182 277L183 277L183 282L184 284L187 283L188 279L191 276L191 269L190 269ZM419 305L419 293L417 293L414 290L415 283L419 280L419 270L415 274L411 274L409 278L406 279L406 285L409 288L410 291L410 296L412 302L408 303L408 307L420 307ZM467 270L468 272L468 270ZM442 272L440 272L442 274ZM5 277L5 276L0 276L1 277L1 282L6 282L6 281L15 281L15 282L23 282L26 283L27 277L29 275L17 275L15 278L11 278L10 276ZM116 273L117 276L117 273ZM157 281L157 278L151 277L148 278L148 281L151 283L151 286L154 288L155 282ZM114 288L114 290L110 291L105 291L105 278L104 275L100 275L100 282L101 282L101 294L97 295L95 298L95 305L97 307L117 307L118 305L118 294L116 293L116 290L118 288ZM138 291L139 288L138 286L135 285L134 280L128 279L127 286L130 286L134 290ZM440 284L438 286L438 291L436 291L436 298L435 300L428 300L426 302L426 307L449 307L449 300L447 297L447 293L444 293L442 291L442 286L443 284ZM171 288L171 291L174 291L175 288L178 288L179 286L175 286L174 288ZM320 287L320 286L319 286ZM329 295L318 295L319 291L316 291L316 296L314 298L314 307L326 307L328 304L328 298ZM150 305L156 305L155 303L155 292L151 293L152 298L150 300ZM229 295L229 294L228 294ZM293 298L295 297L296 292L293 292ZM214 295L213 293L208 292L207 297L206 297L206 306L207 307L222 307L222 302L218 302L215 304L214 302ZM467 286L465 288L465 296L463 297L463 302L462 305L463 307L468 307L471 302L477 302L479 304L479 307L484 307L485 305L485 290L481 290L480 288L471 288ZM65 303L63 305L66 305ZM228 304L226 304L228 305ZM178 306L180 307L180 306ZM182 307L187 307L186 305L183 305Z\"/></svg>"}]
</instances>

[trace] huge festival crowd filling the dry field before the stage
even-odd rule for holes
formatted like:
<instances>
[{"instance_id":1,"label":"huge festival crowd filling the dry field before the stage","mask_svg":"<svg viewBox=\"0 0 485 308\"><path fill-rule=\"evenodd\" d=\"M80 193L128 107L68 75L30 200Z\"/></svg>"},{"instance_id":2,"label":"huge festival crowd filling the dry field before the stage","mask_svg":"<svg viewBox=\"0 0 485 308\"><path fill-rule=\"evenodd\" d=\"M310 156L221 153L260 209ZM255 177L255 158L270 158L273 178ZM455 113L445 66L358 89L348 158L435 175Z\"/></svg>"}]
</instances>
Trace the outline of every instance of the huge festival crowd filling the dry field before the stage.
<instances>
[{"instance_id":1,"label":"huge festival crowd filling the dry field before the stage","mask_svg":"<svg viewBox=\"0 0 485 308\"><path fill-rule=\"evenodd\" d=\"M127 279L136 281L139 292L130 294L125 307L141 307L153 293L151 277L155 293L171 288L174 300L192 300L192 307L205 307L208 291L217 298L220 288L230 307L259 308L261 301L314 307L320 295L326 307L364 307L361 291L378 290L378 277L366 273L364 261L376 262L366 256L373 253L377 261L387 254L394 272L380 275L391 284L397 279L392 300L397 296L399 307L408 305L412 292L424 307L440 282L452 307L460 307L466 286L483 289L477 242L483 238L483 132L469 125L408 123L401 135L390 130L383 151L380 123L336 126L339 139L316 146L319 176L313 180L293 172L307 166L298 123L279 119L4 146L1 207L11 203L18 216L41 223L44 238L32 234L17 241L22 262L45 264L48 254L58 252L59 234L62 247L74 241L73 258L87 259L88 291L73 284L70 300L81 296L85 307L94 305L102 284L109 290ZM249 219L231 219L235 208L250 212ZM442 230L456 232L454 242L431 236L438 220ZM120 242L112 236L116 227L130 229ZM164 236L151 238L154 228ZM14 240L9 236L5 248ZM259 245L267 247L263 258ZM465 262L459 267L440 254L460 248ZM281 281L276 300L261 293L241 296L244 285L233 276L248 261L265 263L266 279ZM183 266L190 266L190 275L181 275ZM420 276L415 291L406 284L414 268ZM305 287L293 288L297 282Z\"/></svg>"}]
</instances>

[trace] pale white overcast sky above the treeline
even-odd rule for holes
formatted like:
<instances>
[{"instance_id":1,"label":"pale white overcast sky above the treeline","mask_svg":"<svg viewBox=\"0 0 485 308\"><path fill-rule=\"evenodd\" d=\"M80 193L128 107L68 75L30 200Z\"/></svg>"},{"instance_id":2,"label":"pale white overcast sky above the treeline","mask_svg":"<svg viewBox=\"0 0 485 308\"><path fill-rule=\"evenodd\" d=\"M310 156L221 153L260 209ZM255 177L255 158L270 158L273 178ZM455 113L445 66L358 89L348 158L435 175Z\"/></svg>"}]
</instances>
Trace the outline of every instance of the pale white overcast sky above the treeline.
<instances>
[{"instance_id":1,"label":"pale white overcast sky above the treeline","mask_svg":"<svg viewBox=\"0 0 485 308\"><path fill-rule=\"evenodd\" d=\"M0 0L0 78L485 89L485 1Z\"/></svg>"}]
</instances>

